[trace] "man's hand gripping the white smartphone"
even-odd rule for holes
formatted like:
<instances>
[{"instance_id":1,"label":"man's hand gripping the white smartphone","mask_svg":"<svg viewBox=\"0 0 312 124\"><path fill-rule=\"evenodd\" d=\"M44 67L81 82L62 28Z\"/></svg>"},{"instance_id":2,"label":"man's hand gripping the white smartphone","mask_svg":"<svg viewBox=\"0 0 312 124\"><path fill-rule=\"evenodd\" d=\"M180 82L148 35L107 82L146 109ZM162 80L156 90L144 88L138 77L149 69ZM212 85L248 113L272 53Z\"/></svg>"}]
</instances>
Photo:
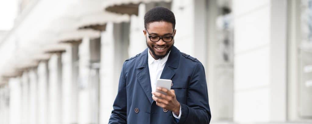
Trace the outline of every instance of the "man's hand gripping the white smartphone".
<instances>
[{"instance_id":1,"label":"man's hand gripping the white smartphone","mask_svg":"<svg viewBox=\"0 0 312 124\"><path fill-rule=\"evenodd\" d=\"M180 103L177 101L174 90L169 91L168 89L161 87L157 87L157 90L165 92L167 93L167 95L164 95L160 92L152 92L152 94L154 95L153 100L156 101L156 105L164 109L170 110L176 115L179 115Z\"/></svg>"}]
</instances>

